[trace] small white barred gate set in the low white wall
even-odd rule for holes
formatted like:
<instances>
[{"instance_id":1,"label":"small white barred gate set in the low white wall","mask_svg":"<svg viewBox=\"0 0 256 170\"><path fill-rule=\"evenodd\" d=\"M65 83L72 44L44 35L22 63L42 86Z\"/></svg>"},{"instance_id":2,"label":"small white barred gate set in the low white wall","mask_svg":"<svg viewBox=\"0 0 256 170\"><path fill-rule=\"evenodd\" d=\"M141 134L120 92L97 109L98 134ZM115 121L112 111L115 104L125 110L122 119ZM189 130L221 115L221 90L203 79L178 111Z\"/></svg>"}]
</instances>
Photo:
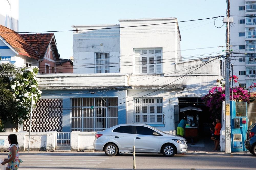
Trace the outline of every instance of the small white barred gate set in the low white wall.
<instances>
[{"instance_id":1,"label":"small white barred gate set in the low white wall","mask_svg":"<svg viewBox=\"0 0 256 170\"><path fill-rule=\"evenodd\" d=\"M70 150L70 132L57 132L56 150Z\"/></svg>"}]
</instances>

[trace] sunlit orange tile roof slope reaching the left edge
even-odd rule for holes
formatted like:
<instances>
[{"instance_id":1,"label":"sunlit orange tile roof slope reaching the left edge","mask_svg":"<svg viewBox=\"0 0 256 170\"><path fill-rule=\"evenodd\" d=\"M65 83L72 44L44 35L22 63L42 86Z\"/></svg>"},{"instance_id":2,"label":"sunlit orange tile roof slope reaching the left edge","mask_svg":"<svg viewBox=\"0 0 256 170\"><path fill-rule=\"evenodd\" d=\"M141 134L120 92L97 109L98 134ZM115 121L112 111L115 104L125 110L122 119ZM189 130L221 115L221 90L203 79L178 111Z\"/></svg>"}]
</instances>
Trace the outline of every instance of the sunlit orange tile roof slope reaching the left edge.
<instances>
[{"instance_id":1,"label":"sunlit orange tile roof slope reaching the left edge","mask_svg":"<svg viewBox=\"0 0 256 170\"><path fill-rule=\"evenodd\" d=\"M6 33L11 32L11 33ZM36 52L17 32L0 25L0 36L18 52L19 55L24 55L34 59L39 59Z\"/></svg>"}]
</instances>

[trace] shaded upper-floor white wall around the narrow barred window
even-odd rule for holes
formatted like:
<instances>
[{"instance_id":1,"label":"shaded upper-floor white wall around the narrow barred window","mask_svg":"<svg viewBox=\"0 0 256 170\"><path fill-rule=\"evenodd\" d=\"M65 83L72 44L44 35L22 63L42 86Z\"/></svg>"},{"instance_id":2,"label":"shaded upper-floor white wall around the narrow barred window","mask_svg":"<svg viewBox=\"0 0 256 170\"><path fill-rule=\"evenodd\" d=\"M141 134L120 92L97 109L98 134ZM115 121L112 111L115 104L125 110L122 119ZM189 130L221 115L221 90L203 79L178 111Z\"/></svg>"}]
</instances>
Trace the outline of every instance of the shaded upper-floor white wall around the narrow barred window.
<instances>
[{"instance_id":1,"label":"shaded upper-floor white wall around the narrow barred window","mask_svg":"<svg viewBox=\"0 0 256 170\"><path fill-rule=\"evenodd\" d=\"M95 73L95 52L109 53L109 73L119 73L120 32L119 25L74 25L73 72ZM100 28L113 28L102 29ZM90 30L84 30L90 29ZM96 29L96 30L92 30Z\"/></svg>"}]
</instances>

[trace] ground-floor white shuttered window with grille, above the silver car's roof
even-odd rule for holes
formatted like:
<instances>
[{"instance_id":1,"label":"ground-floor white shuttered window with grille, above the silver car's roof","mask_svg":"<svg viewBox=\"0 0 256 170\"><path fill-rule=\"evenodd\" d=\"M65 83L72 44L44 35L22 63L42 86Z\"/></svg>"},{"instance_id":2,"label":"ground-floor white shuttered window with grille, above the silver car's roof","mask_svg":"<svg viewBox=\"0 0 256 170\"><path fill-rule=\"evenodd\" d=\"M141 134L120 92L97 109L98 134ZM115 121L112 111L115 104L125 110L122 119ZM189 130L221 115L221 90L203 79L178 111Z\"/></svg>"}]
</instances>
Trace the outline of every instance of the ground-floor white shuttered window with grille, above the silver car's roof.
<instances>
[{"instance_id":1,"label":"ground-floor white shuttered window with grille, above the silver car's roof","mask_svg":"<svg viewBox=\"0 0 256 170\"><path fill-rule=\"evenodd\" d=\"M134 98L134 123L163 123L162 98Z\"/></svg>"}]
</instances>

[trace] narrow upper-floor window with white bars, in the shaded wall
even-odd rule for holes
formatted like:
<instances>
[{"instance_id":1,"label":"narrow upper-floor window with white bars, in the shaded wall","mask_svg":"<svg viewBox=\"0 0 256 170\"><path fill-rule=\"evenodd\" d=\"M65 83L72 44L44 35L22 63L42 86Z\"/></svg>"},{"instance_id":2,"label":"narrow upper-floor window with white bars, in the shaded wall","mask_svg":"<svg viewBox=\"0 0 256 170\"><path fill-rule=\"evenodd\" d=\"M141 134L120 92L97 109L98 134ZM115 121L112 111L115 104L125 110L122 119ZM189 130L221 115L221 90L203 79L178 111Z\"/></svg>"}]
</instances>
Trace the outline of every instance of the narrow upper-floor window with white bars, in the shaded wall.
<instances>
[{"instance_id":1,"label":"narrow upper-floor window with white bars, in the shaded wall","mask_svg":"<svg viewBox=\"0 0 256 170\"><path fill-rule=\"evenodd\" d=\"M109 73L109 53L95 53L95 73Z\"/></svg>"}]
</instances>

